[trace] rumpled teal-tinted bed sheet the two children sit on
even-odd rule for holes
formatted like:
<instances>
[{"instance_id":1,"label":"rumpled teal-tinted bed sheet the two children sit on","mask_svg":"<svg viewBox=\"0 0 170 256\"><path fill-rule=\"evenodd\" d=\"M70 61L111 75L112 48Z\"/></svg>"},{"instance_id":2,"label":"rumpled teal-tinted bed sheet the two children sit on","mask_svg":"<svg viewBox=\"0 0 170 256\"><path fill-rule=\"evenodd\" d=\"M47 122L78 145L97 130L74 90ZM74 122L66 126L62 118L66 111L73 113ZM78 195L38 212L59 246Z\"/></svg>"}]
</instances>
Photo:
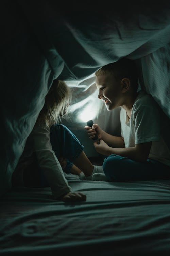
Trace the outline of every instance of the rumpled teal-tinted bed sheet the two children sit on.
<instances>
[{"instance_id":1,"label":"rumpled teal-tinted bed sheet the two children sit on","mask_svg":"<svg viewBox=\"0 0 170 256\"><path fill-rule=\"evenodd\" d=\"M24 187L0 199L0 255L169 256L170 181L66 178L86 202L55 201L50 188Z\"/></svg>"}]
</instances>

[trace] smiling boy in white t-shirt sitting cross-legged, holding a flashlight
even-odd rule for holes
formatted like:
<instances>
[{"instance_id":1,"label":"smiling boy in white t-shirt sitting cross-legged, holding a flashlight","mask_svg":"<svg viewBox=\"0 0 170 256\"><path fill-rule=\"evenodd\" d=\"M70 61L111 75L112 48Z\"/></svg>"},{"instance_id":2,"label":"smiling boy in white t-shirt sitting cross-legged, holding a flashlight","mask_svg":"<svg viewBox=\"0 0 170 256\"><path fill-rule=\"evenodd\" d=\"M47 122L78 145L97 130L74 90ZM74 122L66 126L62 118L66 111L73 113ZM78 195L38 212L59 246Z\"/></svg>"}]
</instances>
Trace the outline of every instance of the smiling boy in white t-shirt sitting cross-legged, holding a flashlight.
<instances>
[{"instance_id":1,"label":"smiling boy in white t-shirt sitting cross-legged, holding a flashlight","mask_svg":"<svg viewBox=\"0 0 170 256\"><path fill-rule=\"evenodd\" d=\"M102 173L92 180L130 181L170 178L170 152L160 134L159 112L153 98L138 91L135 63L127 58L96 71L98 98L107 110L121 107L121 136L104 132L99 125L85 126L92 139L97 133L96 151L107 156Z\"/></svg>"}]
</instances>

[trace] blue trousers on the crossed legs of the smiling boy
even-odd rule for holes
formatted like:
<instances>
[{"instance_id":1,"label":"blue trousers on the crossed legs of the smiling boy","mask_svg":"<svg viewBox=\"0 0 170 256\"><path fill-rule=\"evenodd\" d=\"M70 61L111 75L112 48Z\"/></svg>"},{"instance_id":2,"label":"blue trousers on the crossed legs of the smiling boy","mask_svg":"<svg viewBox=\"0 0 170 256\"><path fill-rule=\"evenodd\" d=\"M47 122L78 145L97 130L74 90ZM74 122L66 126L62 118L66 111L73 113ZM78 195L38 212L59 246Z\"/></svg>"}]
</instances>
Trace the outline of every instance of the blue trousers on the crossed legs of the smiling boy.
<instances>
[{"instance_id":1,"label":"blue trousers on the crossed legs of the smiling boy","mask_svg":"<svg viewBox=\"0 0 170 256\"><path fill-rule=\"evenodd\" d=\"M115 154L104 159L103 171L109 181L170 179L170 167L159 161L137 162Z\"/></svg>"}]
</instances>

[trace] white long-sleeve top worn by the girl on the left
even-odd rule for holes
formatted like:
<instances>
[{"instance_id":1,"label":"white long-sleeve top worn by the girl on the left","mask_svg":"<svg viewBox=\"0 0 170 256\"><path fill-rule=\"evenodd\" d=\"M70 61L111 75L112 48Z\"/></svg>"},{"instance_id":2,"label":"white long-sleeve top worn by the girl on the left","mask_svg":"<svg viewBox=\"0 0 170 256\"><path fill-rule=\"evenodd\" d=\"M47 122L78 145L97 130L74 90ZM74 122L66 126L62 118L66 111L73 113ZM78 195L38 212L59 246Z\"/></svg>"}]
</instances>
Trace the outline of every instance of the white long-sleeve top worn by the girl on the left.
<instances>
[{"instance_id":1,"label":"white long-sleeve top worn by the girl on the left","mask_svg":"<svg viewBox=\"0 0 170 256\"><path fill-rule=\"evenodd\" d=\"M52 150L50 127L48 125L41 126L38 122L35 124L27 138L26 146L15 170L15 176L24 168L28 168L33 160L33 153L36 154L39 168L47 179L55 199L72 191L64 176L60 162Z\"/></svg>"}]
</instances>

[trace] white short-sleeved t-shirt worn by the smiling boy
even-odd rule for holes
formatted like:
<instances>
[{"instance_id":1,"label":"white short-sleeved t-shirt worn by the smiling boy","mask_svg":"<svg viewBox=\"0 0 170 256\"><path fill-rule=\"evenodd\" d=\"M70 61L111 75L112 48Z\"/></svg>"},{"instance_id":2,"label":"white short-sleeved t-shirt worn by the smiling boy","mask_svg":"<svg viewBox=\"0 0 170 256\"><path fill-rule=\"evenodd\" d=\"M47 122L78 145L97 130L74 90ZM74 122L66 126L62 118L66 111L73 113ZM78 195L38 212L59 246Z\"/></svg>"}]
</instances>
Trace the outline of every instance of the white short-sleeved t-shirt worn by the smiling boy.
<instances>
[{"instance_id":1,"label":"white short-sleeved t-shirt worn by the smiling boy","mask_svg":"<svg viewBox=\"0 0 170 256\"><path fill-rule=\"evenodd\" d=\"M128 119L126 111L121 108L121 136L124 138L125 147L152 141L148 158L170 166L170 151L161 136L159 111L149 94L139 91Z\"/></svg>"}]
</instances>

